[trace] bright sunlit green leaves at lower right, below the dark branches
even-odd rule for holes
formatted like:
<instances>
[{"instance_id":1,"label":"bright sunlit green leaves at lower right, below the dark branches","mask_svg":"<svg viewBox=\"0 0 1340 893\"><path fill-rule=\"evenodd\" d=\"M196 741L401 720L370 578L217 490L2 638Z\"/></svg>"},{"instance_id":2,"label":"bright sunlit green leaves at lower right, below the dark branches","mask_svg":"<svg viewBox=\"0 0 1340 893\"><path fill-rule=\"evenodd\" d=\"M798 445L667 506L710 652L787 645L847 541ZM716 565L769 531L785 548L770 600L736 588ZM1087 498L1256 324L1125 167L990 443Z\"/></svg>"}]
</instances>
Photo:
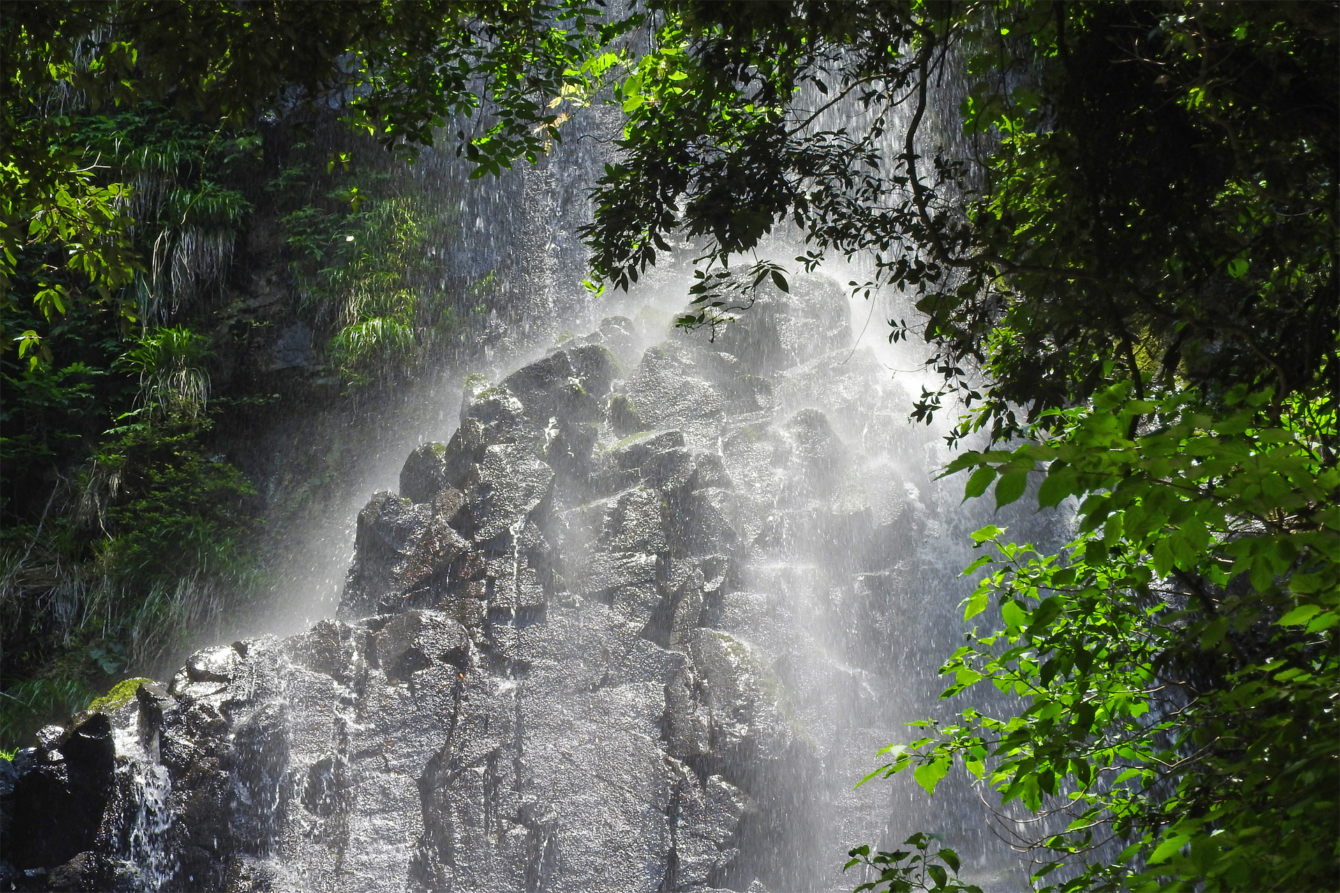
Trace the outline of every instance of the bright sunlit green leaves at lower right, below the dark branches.
<instances>
[{"instance_id":1,"label":"bright sunlit green leaves at lower right, below the dark branches","mask_svg":"<svg viewBox=\"0 0 1340 893\"><path fill-rule=\"evenodd\" d=\"M1096 823L1134 834L1167 817L1174 830L1132 843L1126 858L1143 854L1151 869L1128 877L1131 889L1162 889L1158 874L1233 889L1324 874L1327 831L1302 815L1336 806L1340 728L1327 704L1340 671L1340 542L1333 459L1313 446L1335 442L1333 410L1304 395L1276 403L1238 392L1242 408L1225 412L1190 390L1138 400L1118 383L1099 394L1093 408L1067 411L1045 444L967 453L951 466L988 482L1041 478L1040 505L1081 497L1081 534L1056 554L996 526L973 534L988 554L965 573L986 573L965 617L994 602L1000 625L946 661L945 696L989 681L1025 707L926 723L935 736L896 751L884 771L910 767L926 787L943 760L961 759L1002 801L1034 811L1068 785L1084 813L1049 838L1060 860L1051 870L1084 851ZM1128 439L1124 420L1150 416L1158 424ZM1060 483L1048 491L1048 481ZM1222 668L1219 681L1198 681L1189 700L1183 673L1207 661ZM1172 758L1183 746L1198 748L1194 760ZM1100 773L1115 773L1116 786L1095 786ZM1147 799L1156 783L1170 787ZM1181 821L1193 805L1213 818ZM1269 851L1246 856L1268 829ZM1280 835L1290 841L1288 869ZM1081 877L1120 877L1120 865L1096 862Z\"/></svg>"}]
</instances>

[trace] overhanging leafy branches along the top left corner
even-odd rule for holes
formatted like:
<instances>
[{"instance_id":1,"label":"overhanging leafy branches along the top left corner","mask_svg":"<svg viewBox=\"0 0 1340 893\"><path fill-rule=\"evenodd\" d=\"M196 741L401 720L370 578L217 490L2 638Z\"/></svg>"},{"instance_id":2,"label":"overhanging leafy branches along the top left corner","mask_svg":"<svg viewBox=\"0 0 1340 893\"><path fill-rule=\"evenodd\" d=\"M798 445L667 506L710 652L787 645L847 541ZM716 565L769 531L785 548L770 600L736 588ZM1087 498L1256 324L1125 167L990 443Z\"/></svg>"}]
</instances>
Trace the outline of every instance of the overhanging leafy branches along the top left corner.
<instances>
[{"instance_id":1,"label":"overhanging leafy branches along the top left corner","mask_svg":"<svg viewBox=\"0 0 1340 893\"><path fill-rule=\"evenodd\" d=\"M98 147L70 139L75 114L154 102L217 127L334 103L410 157L448 129L478 173L497 173L560 138L591 88L583 63L626 27L587 0L16 4L0 20L0 301L16 307L16 269L43 246L64 256L43 269L82 285L39 280L25 297L47 319L115 301L145 262L134 189L105 182ZM35 329L3 337L39 356Z\"/></svg>"}]
</instances>

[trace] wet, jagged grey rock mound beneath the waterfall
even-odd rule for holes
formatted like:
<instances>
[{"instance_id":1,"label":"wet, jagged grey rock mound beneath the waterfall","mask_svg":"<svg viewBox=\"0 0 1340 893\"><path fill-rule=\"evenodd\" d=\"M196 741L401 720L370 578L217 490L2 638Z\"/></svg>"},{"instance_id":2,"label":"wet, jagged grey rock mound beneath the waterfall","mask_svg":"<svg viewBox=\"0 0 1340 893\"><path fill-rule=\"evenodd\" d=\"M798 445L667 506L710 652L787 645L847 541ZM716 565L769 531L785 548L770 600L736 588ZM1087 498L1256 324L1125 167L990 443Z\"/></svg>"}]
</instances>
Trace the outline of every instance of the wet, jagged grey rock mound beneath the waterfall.
<instances>
[{"instance_id":1,"label":"wet, jagged grey rock mound beneath the waterfall","mask_svg":"<svg viewBox=\"0 0 1340 893\"><path fill-rule=\"evenodd\" d=\"M840 291L793 292L468 382L359 514L338 619L0 763L7 882L850 889L888 803L848 775L925 615L921 457Z\"/></svg>"}]
</instances>

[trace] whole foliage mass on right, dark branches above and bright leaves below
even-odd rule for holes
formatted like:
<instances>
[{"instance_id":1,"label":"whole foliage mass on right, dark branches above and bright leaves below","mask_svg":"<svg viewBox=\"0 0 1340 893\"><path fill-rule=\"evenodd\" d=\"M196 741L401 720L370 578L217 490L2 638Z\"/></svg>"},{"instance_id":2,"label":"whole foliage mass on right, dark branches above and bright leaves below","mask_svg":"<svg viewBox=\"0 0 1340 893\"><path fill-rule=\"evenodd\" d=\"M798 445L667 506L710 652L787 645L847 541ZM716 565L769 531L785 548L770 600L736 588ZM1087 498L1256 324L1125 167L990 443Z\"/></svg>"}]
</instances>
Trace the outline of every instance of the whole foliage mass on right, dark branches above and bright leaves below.
<instances>
[{"instance_id":1,"label":"whole foliage mass on right, dark branches above and bright leaves below","mask_svg":"<svg viewBox=\"0 0 1340 893\"><path fill-rule=\"evenodd\" d=\"M915 416L957 398L954 439L1006 447L950 466L966 495L1079 499L1057 553L978 534L966 613L1000 620L946 696L1018 711L927 722L882 771L934 790L961 760L1043 813L1020 845L1059 889L1333 889L1336 4L657 11L596 272L695 240L697 325L785 280L730 266L773 230L807 268L860 257L854 289L925 313L891 321L943 376ZM911 853L852 856L878 889L957 882Z\"/></svg>"}]
</instances>

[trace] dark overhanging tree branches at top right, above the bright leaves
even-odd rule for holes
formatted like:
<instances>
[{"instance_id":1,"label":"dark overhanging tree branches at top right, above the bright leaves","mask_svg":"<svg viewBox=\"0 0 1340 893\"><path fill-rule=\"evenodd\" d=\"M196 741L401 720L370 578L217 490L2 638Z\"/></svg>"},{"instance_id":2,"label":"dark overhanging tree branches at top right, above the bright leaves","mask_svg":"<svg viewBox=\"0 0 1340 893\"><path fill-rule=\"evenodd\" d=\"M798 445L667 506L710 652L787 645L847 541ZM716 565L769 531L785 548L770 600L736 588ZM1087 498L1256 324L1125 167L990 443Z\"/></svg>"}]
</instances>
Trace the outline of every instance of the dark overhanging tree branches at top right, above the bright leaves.
<instances>
[{"instance_id":1,"label":"dark overhanging tree branches at top right, above the bright leaves","mask_svg":"<svg viewBox=\"0 0 1340 893\"><path fill-rule=\"evenodd\" d=\"M997 438L1114 374L1336 384L1333 4L661 12L587 230L615 284L679 234L712 270L793 224L815 246L796 262L864 256L874 277L854 285L919 295L946 378L922 414L982 399L989 368L969 427ZM929 130L955 68L958 154L935 143L945 120ZM839 99L864 114L825 116ZM725 305L728 277L704 278L690 324Z\"/></svg>"}]
</instances>

